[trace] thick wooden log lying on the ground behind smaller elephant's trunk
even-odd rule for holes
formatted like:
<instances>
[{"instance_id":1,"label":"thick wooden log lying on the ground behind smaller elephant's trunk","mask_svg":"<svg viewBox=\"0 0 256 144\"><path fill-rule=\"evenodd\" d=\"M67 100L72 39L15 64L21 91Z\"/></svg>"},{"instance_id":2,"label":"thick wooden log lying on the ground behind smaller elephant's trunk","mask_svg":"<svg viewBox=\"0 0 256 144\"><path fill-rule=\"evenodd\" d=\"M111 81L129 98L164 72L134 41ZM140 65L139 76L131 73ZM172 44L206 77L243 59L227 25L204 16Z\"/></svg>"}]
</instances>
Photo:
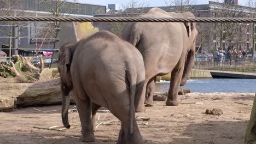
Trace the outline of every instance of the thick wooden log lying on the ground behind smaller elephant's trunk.
<instances>
[{"instance_id":1,"label":"thick wooden log lying on the ground behind smaller elephant's trunk","mask_svg":"<svg viewBox=\"0 0 256 144\"><path fill-rule=\"evenodd\" d=\"M10 111L20 106L62 103L60 79L37 83L1 83L0 91L0 111ZM71 103L74 103L73 96Z\"/></svg>"}]
</instances>

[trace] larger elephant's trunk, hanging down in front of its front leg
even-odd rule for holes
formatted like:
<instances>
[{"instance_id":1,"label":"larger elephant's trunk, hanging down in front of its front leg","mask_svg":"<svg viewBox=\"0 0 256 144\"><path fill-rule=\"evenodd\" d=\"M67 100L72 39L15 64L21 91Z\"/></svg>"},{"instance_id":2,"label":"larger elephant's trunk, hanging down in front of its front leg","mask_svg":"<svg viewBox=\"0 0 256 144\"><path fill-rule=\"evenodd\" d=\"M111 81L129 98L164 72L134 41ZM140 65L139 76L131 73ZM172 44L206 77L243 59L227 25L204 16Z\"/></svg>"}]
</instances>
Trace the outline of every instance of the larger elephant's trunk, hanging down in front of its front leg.
<instances>
[{"instance_id":1,"label":"larger elephant's trunk, hanging down in front of its front leg","mask_svg":"<svg viewBox=\"0 0 256 144\"><path fill-rule=\"evenodd\" d=\"M194 58L195 58L195 43L193 44L192 49L188 52L188 56L184 65L181 86L184 86L185 83L187 82L189 73L194 65Z\"/></svg>"}]
</instances>

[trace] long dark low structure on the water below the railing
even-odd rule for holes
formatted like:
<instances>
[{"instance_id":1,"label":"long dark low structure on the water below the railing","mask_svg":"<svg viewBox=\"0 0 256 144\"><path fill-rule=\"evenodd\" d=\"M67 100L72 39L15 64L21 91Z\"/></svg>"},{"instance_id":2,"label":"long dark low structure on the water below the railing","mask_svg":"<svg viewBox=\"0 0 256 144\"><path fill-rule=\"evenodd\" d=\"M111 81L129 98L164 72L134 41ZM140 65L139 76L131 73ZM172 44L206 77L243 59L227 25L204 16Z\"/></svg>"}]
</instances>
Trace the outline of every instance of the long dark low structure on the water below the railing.
<instances>
[{"instance_id":1,"label":"long dark low structure on the water below the railing","mask_svg":"<svg viewBox=\"0 0 256 144\"><path fill-rule=\"evenodd\" d=\"M249 73L221 73L221 72L210 72L212 77L215 79L256 79L256 74Z\"/></svg>"}]
</instances>

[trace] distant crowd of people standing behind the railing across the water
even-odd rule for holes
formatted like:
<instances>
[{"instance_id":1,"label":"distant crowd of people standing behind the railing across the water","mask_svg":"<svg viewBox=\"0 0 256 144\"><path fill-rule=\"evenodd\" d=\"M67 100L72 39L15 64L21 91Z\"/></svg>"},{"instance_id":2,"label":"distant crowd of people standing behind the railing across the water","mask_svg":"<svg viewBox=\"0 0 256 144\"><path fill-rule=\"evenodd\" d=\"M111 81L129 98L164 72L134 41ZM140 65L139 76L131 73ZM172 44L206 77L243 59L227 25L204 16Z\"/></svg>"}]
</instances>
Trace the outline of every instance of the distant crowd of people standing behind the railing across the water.
<instances>
[{"instance_id":1,"label":"distant crowd of people standing behind the railing across the water","mask_svg":"<svg viewBox=\"0 0 256 144\"><path fill-rule=\"evenodd\" d=\"M229 64L231 65L233 63L242 63L245 64L247 53L245 50L243 51L236 51L236 47L232 50L224 51L223 49L216 49L216 51L213 53L214 57L214 64L220 65L220 64Z\"/></svg>"}]
</instances>

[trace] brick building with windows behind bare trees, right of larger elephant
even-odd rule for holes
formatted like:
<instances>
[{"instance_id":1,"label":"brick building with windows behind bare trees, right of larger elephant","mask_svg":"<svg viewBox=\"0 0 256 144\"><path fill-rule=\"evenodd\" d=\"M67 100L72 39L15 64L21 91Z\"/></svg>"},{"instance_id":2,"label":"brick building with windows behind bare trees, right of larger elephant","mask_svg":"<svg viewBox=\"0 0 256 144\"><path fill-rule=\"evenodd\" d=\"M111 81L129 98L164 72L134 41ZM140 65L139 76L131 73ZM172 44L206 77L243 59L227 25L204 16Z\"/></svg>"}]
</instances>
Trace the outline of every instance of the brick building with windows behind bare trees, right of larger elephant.
<instances>
[{"instance_id":1,"label":"brick building with windows behind bare trees, right of larger elephant","mask_svg":"<svg viewBox=\"0 0 256 144\"><path fill-rule=\"evenodd\" d=\"M196 17L251 17L250 13L256 12L256 9L254 8L238 5L238 0L226 0L225 3L210 1L208 4L184 5L183 7L186 9L185 11L190 11ZM121 14L106 13L94 16L137 16L146 13L151 8L153 7L125 9ZM158 8L167 12L179 11L179 9L181 9L180 6ZM111 31L111 26L107 23L96 24L101 30L107 29ZM220 28L222 25L224 28ZM202 50L208 52L211 52L216 48L228 50L232 49L234 46L236 46L238 50L252 51L252 26L252 23L197 23L199 34L197 35L196 46L199 47L202 43ZM256 27L254 29L256 29ZM225 35L225 37L220 35Z\"/></svg>"}]
</instances>

